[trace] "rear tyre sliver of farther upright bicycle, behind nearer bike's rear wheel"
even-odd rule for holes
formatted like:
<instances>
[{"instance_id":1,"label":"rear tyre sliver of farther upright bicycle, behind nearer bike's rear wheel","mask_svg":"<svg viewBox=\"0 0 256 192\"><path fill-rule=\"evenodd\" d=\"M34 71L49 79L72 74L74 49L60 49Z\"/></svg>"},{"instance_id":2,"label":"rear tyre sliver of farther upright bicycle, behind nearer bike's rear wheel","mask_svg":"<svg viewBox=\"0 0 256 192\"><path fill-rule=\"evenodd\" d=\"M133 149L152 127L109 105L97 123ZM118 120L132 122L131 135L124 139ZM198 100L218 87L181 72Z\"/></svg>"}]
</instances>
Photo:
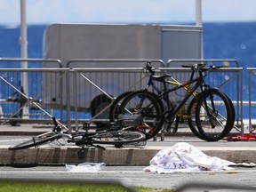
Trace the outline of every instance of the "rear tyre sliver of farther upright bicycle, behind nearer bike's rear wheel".
<instances>
[{"instance_id":1,"label":"rear tyre sliver of farther upright bicycle, behind nearer bike's rear wheel","mask_svg":"<svg viewBox=\"0 0 256 192\"><path fill-rule=\"evenodd\" d=\"M110 122L117 122L117 117L118 117L118 109L121 106L122 101L124 100L125 97L127 97L131 92L124 92L120 94L116 100L112 103L110 109L109 109L109 121Z\"/></svg>"}]
</instances>

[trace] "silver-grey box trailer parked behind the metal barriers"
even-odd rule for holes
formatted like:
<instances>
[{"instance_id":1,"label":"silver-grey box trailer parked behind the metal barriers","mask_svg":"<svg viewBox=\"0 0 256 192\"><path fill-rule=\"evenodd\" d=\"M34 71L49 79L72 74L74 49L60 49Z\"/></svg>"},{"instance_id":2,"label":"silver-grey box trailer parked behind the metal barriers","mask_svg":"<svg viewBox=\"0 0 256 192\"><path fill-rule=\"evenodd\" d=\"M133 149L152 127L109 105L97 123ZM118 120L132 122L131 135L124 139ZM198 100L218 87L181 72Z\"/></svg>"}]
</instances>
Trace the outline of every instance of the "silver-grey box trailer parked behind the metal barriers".
<instances>
[{"instance_id":1,"label":"silver-grey box trailer parked behind the metal barriers","mask_svg":"<svg viewBox=\"0 0 256 192\"><path fill-rule=\"evenodd\" d=\"M143 59L164 62L171 59L201 59L202 33L202 27L188 25L52 24L44 31L44 59L59 59L62 66L45 62L44 68L140 68L145 65L141 62L68 63L75 59ZM173 67L178 65L174 63ZM105 76L104 73L101 76ZM96 81L92 76L91 78ZM94 78L97 78L96 75ZM46 76L43 87L48 84L47 81L49 78ZM86 84L84 79L78 81L79 84ZM108 84L101 81L97 85L114 96L124 91L120 85L122 80L107 81ZM114 92L108 91L111 87L117 88ZM97 107L102 106L100 102L110 102L102 92L92 91L88 86L77 90L76 95L75 92L70 92L70 106L74 106L76 101L78 108L92 111L92 116L97 114ZM62 94L60 90L52 89L51 94L44 95L44 102L60 104L59 97L65 95L65 92L65 87Z\"/></svg>"}]
</instances>

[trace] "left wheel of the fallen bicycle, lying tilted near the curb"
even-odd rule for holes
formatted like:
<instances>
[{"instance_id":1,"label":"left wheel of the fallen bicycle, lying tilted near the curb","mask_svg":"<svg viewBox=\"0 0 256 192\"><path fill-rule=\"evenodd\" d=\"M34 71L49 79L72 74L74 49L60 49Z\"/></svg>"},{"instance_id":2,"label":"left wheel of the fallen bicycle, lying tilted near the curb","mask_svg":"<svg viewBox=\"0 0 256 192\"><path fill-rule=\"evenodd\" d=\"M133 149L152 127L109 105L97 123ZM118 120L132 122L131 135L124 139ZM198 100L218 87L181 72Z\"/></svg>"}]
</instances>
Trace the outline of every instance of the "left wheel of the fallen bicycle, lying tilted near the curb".
<instances>
[{"instance_id":1,"label":"left wheel of the fallen bicycle, lying tilted near the curb","mask_svg":"<svg viewBox=\"0 0 256 192\"><path fill-rule=\"evenodd\" d=\"M60 139L60 137L61 135L56 132L46 132L44 134L41 134L31 139L20 142L19 144L10 147L9 150L20 150L24 148L40 146L44 143L52 142L53 140L58 140Z\"/></svg>"}]
</instances>

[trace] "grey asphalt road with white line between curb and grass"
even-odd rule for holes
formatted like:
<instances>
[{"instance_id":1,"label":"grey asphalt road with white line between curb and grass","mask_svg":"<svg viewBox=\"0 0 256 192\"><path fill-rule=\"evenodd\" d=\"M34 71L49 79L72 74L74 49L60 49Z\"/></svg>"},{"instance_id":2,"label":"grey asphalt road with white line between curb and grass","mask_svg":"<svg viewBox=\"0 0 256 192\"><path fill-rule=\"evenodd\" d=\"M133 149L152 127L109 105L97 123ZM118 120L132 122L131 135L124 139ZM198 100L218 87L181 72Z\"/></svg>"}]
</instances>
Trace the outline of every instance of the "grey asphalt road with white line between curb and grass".
<instances>
[{"instance_id":1,"label":"grey asphalt road with white line between curb and grass","mask_svg":"<svg viewBox=\"0 0 256 192\"><path fill-rule=\"evenodd\" d=\"M125 186L145 187L145 188L167 188L173 189L183 185L196 183L196 188L185 191L247 191L245 188L254 187L255 191L255 168L235 167L232 171L214 172L175 172L170 174L157 174L153 172L143 172L145 166L105 166L98 172L68 172L65 166L34 166L34 167L0 167L1 180L13 181L40 181L56 182L57 184L79 183L86 188L88 183L120 181ZM206 188L203 185L215 185L213 188ZM220 189L221 185L229 186L231 189ZM234 187L240 186L243 189L234 190ZM203 186L200 190L200 186ZM16 190L17 191L17 190ZM162 190L155 190L162 191ZM167 190L164 190L167 191Z\"/></svg>"}]
</instances>

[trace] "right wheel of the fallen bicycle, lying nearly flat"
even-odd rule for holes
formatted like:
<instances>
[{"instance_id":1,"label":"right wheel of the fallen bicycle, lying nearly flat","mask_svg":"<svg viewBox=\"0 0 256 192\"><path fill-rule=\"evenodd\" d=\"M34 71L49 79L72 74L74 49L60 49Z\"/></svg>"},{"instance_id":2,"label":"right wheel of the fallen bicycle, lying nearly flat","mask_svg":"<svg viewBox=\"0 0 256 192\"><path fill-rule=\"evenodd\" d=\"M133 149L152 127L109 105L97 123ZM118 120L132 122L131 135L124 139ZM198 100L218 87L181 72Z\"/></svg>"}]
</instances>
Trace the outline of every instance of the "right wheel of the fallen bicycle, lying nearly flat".
<instances>
[{"instance_id":1,"label":"right wheel of the fallen bicycle, lying nearly flat","mask_svg":"<svg viewBox=\"0 0 256 192\"><path fill-rule=\"evenodd\" d=\"M145 140L145 134L142 132L132 131L112 131L99 133L95 138L92 138L93 143L99 144L124 144L133 143Z\"/></svg>"}]
</instances>

